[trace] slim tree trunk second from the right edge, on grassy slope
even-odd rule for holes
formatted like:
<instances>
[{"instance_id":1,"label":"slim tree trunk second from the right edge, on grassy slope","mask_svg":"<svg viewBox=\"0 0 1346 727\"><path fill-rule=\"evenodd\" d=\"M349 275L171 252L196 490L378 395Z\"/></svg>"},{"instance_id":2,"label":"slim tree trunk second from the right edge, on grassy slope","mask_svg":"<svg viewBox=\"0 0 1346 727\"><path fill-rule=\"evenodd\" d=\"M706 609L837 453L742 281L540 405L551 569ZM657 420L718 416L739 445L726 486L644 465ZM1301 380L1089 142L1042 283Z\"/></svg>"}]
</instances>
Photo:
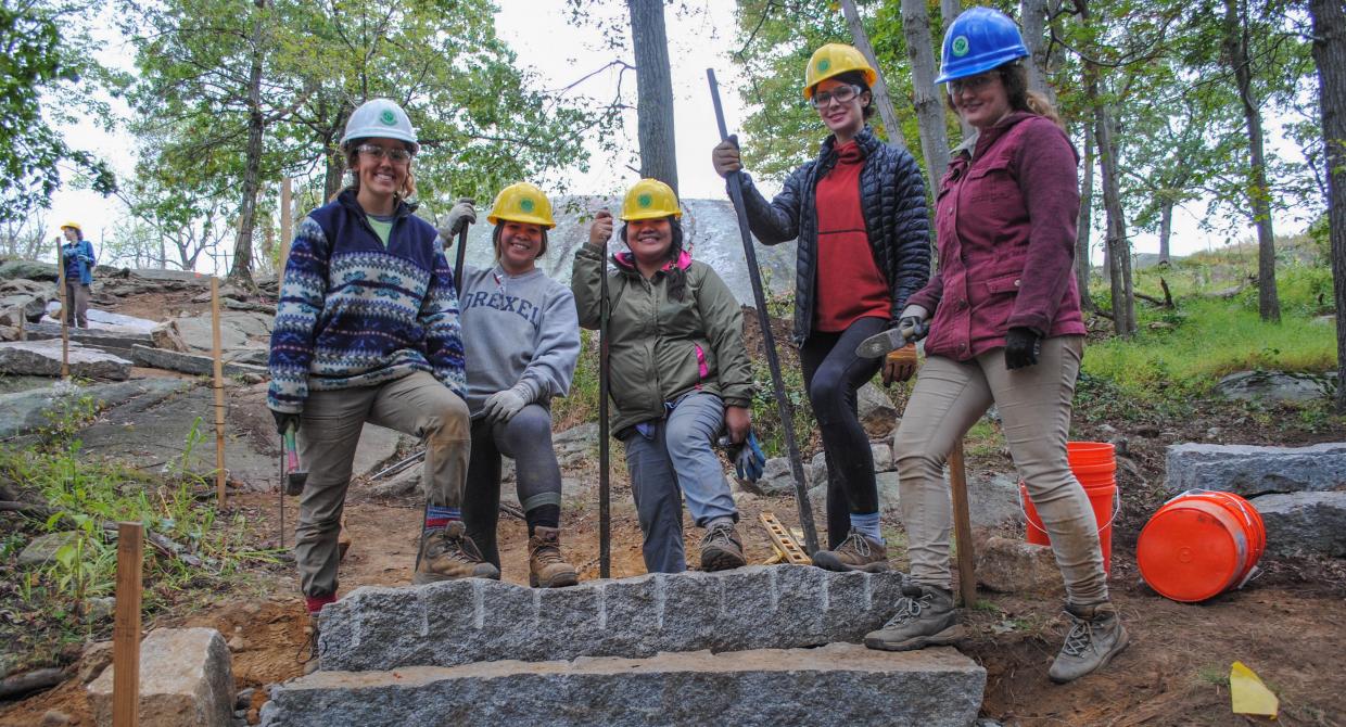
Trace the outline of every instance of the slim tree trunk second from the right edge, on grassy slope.
<instances>
[{"instance_id":1,"label":"slim tree trunk second from the right edge, on grassy slope","mask_svg":"<svg viewBox=\"0 0 1346 727\"><path fill-rule=\"evenodd\" d=\"M1252 65L1248 59L1248 7L1241 0L1225 0L1225 54L1234 69L1238 100L1248 123L1248 201L1257 226L1257 311L1263 320L1280 322L1280 299L1276 295L1276 236L1271 226L1271 187L1263 158L1261 109L1253 97Z\"/></svg>"}]
</instances>

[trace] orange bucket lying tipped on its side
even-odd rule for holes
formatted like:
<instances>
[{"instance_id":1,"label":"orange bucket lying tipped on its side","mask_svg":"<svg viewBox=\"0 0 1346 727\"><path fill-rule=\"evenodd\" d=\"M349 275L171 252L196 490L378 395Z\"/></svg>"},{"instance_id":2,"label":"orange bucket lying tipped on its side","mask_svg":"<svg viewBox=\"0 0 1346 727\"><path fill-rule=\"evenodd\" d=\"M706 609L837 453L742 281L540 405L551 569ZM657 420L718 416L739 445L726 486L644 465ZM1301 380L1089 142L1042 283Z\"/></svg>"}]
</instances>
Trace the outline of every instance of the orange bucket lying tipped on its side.
<instances>
[{"instance_id":1,"label":"orange bucket lying tipped on its side","mask_svg":"<svg viewBox=\"0 0 1346 727\"><path fill-rule=\"evenodd\" d=\"M1183 603L1242 588L1267 549L1261 514L1233 493L1186 491L1166 502L1136 541L1136 561L1159 595Z\"/></svg>"}]
</instances>

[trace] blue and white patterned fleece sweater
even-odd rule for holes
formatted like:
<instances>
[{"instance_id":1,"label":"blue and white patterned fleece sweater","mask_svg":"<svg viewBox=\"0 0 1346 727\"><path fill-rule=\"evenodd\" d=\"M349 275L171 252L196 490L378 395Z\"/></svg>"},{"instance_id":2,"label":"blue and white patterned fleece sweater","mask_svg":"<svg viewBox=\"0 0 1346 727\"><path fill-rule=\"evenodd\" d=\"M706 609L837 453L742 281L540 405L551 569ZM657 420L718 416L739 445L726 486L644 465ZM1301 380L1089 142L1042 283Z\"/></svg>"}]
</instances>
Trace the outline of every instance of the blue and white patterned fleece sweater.
<instances>
[{"instance_id":1,"label":"blue and white patterned fleece sweater","mask_svg":"<svg viewBox=\"0 0 1346 727\"><path fill-rule=\"evenodd\" d=\"M300 222L271 334L268 407L299 413L310 390L412 372L466 397L458 295L436 234L398 203L385 248L350 190Z\"/></svg>"}]
</instances>

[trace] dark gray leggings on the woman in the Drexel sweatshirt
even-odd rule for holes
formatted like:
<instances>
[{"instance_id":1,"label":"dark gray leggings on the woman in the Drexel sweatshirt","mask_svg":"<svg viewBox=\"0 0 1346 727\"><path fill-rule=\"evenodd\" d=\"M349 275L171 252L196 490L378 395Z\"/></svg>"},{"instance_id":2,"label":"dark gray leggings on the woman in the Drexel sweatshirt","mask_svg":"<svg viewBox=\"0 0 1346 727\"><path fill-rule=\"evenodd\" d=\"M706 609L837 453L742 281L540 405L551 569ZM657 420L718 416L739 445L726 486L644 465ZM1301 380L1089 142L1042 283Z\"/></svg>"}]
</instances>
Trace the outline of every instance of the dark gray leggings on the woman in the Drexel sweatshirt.
<instances>
[{"instance_id":1,"label":"dark gray leggings on the woman in the Drexel sweatshirt","mask_svg":"<svg viewBox=\"0 0 1346 727\"><path fill-rule=\"evenodd\" d=\"M495 526L501 506L501 455L514 460L514 481L524 512L561 505L561 469L552 450L552 412L540 404L520 409L506 424L472 421L472 458L463 493L463 524L482 557L501 564Z\"/></svg>"}]
</instances>

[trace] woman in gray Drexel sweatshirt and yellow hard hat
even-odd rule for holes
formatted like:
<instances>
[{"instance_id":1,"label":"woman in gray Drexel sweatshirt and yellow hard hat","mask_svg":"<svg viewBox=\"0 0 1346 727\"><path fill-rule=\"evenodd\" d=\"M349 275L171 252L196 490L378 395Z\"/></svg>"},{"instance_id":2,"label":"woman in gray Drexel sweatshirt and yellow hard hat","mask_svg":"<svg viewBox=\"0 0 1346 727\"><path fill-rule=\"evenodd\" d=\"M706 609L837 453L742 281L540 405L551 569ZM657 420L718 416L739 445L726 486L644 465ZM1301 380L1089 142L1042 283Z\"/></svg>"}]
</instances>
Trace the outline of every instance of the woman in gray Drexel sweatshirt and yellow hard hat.
<instances>
[{"instance_id":1,"label":"woman in gray Drexel sweatshirt and yellow hard hat","mask_svg":"<svg viewBox=\"0 0 1346 727\"><path fill-rule=\"evenodd\" d=\"M471 207L459 205L440 230L447 244ZM561 557L561 470L552 448L553 396L565 396L580 353L575 298L536 261L556 226L552 205L526 182L501 190L487 215L495 265L466 268L459 291L472 455L463 522L482 556L499 567L501 455L514 459L518 501L528 520L528 571L534 588L573 586Z\"/></svg>"}]
</instances>

